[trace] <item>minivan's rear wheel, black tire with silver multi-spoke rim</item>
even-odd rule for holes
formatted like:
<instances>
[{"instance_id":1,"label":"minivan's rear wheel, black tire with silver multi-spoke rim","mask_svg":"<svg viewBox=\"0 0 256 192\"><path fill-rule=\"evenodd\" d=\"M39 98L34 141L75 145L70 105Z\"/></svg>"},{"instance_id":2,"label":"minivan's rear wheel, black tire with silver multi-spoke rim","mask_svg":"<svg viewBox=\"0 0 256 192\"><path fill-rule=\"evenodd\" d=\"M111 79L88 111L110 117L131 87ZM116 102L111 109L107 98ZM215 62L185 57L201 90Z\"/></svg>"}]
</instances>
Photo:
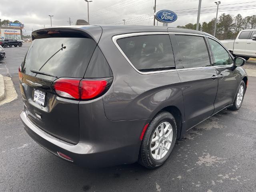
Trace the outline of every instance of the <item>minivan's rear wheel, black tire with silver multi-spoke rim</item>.
<instances>
[{"instance_id":1,"label":"minivan's rear wheel, black tire with silver multi-spoke rim","mask_svg":"<svg viewBox=\"0 0 256 192\"><path fill-rule=\"evenodd\" d=\"M151 120L144 134L139 164L149 169L164 164L174 148L176 137L177 125L174 116L166 111L159 112Z\"/></svg>"}]
</instances>

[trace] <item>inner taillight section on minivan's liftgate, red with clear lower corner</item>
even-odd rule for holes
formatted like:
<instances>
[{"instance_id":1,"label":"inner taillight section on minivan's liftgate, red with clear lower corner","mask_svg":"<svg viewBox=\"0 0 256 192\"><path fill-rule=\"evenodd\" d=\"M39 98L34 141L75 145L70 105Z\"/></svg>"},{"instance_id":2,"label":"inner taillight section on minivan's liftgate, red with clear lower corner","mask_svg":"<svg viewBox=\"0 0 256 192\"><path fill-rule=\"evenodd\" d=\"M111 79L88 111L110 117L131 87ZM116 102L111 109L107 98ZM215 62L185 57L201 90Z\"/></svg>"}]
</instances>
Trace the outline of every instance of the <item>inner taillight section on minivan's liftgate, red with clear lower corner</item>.
<instances>
[{"instance_id":1,"label":"inner taillight section on minivan's liftgate, red with clear lower corner","mask_svg":"<svg viewBox=\"0 0 256 192\"><path fill-rule=\"evenodd\" d=\"M80 79L58 79L54 83L54 89L59 96L79 99Z\"/></svg>"}]
</instances>

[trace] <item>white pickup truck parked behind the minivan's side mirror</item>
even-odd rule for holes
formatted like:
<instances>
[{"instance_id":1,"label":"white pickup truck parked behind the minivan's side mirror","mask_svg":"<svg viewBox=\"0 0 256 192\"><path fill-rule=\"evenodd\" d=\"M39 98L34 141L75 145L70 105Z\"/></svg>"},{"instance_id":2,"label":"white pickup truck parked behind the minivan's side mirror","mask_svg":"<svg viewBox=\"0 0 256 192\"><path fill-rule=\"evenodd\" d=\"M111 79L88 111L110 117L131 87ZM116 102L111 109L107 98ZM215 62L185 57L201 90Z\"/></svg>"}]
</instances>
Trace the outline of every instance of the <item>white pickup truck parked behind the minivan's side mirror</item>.
<instances>
[{"instance_id":1,"label":"white pickup truck parked behind the minivan's side mirror","mask_svg":"<svg viewBox=\"0 0 256 192\"><path fill-rule=\"evenodd\" d=\"M234 55L246 60L256 58L256 29L246 29L238 33L235 40L223 40L222 44Z\"/></svg>"}]
</instances>

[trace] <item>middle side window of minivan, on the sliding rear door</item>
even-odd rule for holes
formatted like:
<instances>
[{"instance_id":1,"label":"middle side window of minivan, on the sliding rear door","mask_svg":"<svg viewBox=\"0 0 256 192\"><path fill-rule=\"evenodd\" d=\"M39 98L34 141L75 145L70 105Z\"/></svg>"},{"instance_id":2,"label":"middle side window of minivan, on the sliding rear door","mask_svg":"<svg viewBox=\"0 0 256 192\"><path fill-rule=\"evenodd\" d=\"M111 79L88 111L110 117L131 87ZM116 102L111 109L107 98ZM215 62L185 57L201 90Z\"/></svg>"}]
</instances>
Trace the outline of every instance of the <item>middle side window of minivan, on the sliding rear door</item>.
<instances>
[{"instance_id":1,"label":"middle side window of minivan, on the sliding rear door","mask_svg":"<svg viewBox=\"0 0 256 192\"><path fill-rule=\"evenodd\" d=\"M204 38L201 36L175 35L178 51L178 68L210 66L210 58Z\"/></svg>"}]
</instances>

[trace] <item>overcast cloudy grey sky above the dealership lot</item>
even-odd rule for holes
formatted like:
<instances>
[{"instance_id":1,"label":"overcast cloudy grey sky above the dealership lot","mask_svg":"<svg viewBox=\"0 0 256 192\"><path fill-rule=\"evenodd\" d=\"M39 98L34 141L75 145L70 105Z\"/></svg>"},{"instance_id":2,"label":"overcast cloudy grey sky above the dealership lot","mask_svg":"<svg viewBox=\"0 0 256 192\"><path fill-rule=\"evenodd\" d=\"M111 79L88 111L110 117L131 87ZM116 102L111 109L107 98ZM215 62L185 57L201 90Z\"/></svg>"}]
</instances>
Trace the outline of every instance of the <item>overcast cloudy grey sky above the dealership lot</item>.
<instances>
[{"instance_id":1,"label":"overcast cloudy grey sky above the dealership lot","mask_svg":"<svg viewBox=\"0 0 256 192\"><path fill-rule=\"evenodd\" d=\"M256 1L220 0L219 14L226 13L242 17L256 14ZM169 24L176 27L196 23L198 0L156 0L156 10L168 9L177 13L178 19ZM89 3L91 24L153 25L154 0L93 0ZM214 0L202 0L200 22L210 21L216 16ZM26 33L50 26L69 25L77 19L87 20L87 3L84 0L1 0L0 19L19 20ZM161 23L158 23L161 25Z\"/></svg>"}]
</instances>

